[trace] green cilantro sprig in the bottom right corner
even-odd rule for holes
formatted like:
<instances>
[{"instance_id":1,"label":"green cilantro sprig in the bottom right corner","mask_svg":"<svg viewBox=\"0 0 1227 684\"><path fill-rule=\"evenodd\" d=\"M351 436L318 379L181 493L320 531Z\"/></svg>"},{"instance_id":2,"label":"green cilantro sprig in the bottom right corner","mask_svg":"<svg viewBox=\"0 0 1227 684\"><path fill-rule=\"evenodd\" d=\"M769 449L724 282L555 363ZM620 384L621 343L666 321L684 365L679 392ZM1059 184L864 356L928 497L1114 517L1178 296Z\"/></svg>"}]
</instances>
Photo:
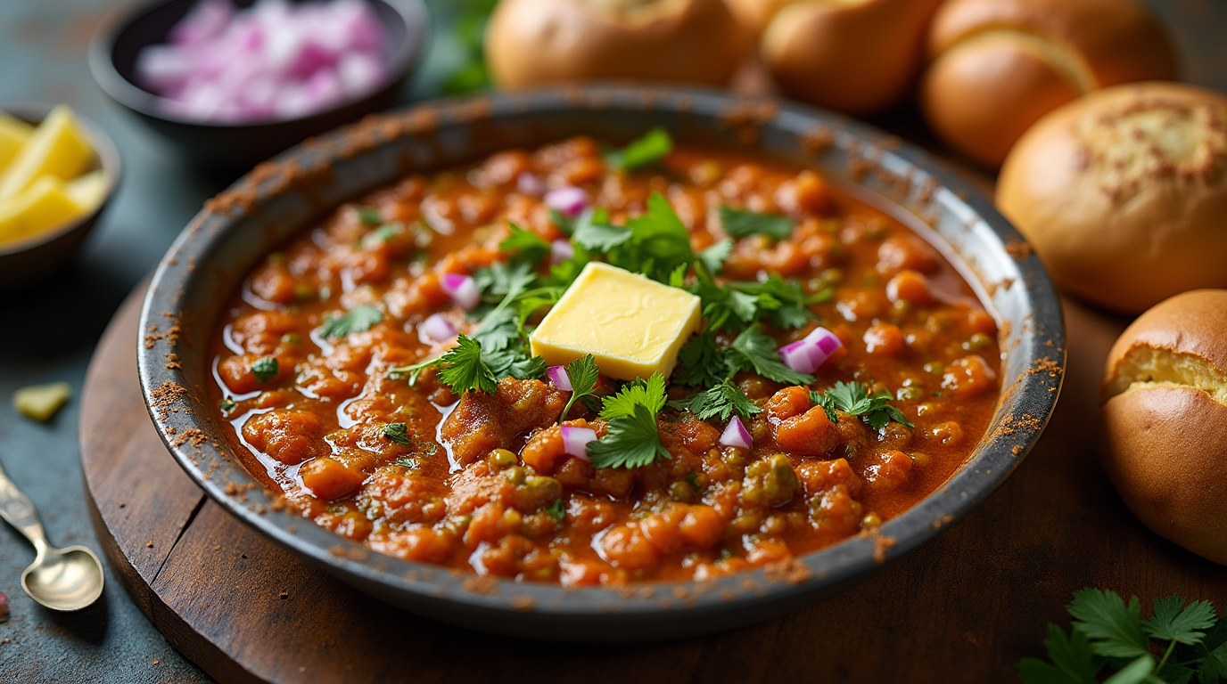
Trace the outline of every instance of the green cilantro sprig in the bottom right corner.
<instances>
[{"instance_id":1,"label":"green cilantro sprig in the bottom right corner","mask_svg":"<svg viewBox=\"0 0 1227 684\"><path fill-rule=\"evenodd\" d=\"M1141 617L1134 596L1085 588L1065 607L1075 618L1069 634L1048 625L1048 661L1022 658L1015 667L1023 684L1168 683L1210 684L1227 677L1227 618L1209 601L1185 604L1179 596L1155 602Z\"/></svg>"}]
</instances>

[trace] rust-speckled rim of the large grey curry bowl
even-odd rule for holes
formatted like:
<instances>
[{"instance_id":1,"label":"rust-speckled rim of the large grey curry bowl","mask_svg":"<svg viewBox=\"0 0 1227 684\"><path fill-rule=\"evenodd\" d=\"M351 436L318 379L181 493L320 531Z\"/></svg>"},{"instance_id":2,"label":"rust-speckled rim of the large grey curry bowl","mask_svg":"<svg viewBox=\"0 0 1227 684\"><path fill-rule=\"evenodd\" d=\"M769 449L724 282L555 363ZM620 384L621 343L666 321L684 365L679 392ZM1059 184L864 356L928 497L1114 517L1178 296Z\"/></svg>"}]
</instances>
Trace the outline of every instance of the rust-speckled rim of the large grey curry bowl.
<instances>
[{"instance_id":1,"label":"rust-speckled rim of the large grey curry bowl","mask_svg":"<svg viewBox=\"0 0 1227 684\"><path fill-rule=\"evenodd\" d=\"M788 609L787 606L801 604L802 595L814 596L823 588L832 590L859 581L886 563L930 541L983 503L1022 462L1039 439L1052 417L1064 380L1065 332L1060 302L1039 259L1031 250L1022 250L1017 255L1011 255L1006 250L1009 244L1025 244L1023 237L972 184L961 180L945 163L934 159L918 146L887 135L869 124L787 101L742 97L698 87L594 83L429 101L393 110L362 125L339 129L309 145L291 148L277 156L272 163L309 165L312 161L330 162L377 151L388 142L388 139L375 140L369 130L380 123L389 124L382 126L383 130L401 130L401 135L415 132L425 135L421 130L410 130L412 125L421 124L433 135L447 130L448 126L471 123L479 116L488 121L497 120L501 115L528 116L551 112L648 110L697 114L717 119L719 113L729 112L733 107L744 108L741 109L744 112L764 109L774 112L772 120L761 124L764 127L777 126L784 130L783 121L787 118L788 126L791 127L833 129L837 139L848 136L845 139L850 141L848 145L865 146L876 151L877 159L882 163L892 161L919 170L921 178L913 180L920 181L923 177L928 177L933 181L930 190L934 196L941 195L944 200L964 207L967 212L974 215L974 218L983 222L1000 240L1004 259L1009 259L1021 275L1017 284L1011 287L1023 288L1026 306L1020 317L1029 320L1026 320L1027 325L1020 321L1015 330L1017 335L1023 336L1020 338L1031 343L1027 346L1028 354L1025 354L1026 367L1014 385L1006 387L1007 380L1002 379L1004 386L989 433L982 438L967 462L941 488L899 516L885 522L874 533L853 536L825 549L796 557L782 568L750 569L706 581L649 581L610 588L562 587L558 583L515 582L487 577L482 579L479 586L474 582L476 575L471 572L384 557L319 527L283 506L270 509L274 499L270 499L259 485L236 495L233 483L227 487L223 479L210 477L202 463L209 462L210 456L215 458L213 465L227 457L229 447L220 446L225 440L212 445L207 444L211 440L205 440L205 444L198 447L175 436L184 429L204 428L205 434L210 434L209 424L198 419L191 408L191 392L202 390L191 389L191 381L185 378L182 369L173 368L174 364L172 368L166 368L163 352L173 351L173 347L163 347L162 341L146 341L139 344L137 349L140 384L146 408L163 443L180 467L211 499L265 537L368 593L375 593L385 601L389 595L407 593L410 602L413 603L411 609L427 612L420 609L421 606L432 606L429 613L453 621L465 621L463 615L479 614L506 618L513 623L537 620L539 624L558 624L571 620L567 624L577 624L575 620L601 617L614 623L622 620L631 624L639 620L634 624L643 624L645 620L665 615L670 618L685 615L687 619L710 619L712 624L709 628L685 630L688 634L712 631L725 624L718 618L731 612L771 604L774 607L771 614L782 613ZM396 125L391 125L393 123ZM409 132L405 132L406 130ZM355 141L364 142L360 142L360 147L356 148L352 145ZM814 165L820 164L815 162ZM261 199L277 196L281 190L276 184L261 184L261 178L266 180L267 174L253 173L237 181L232 190L237 195L247 196L255 191ZM193 282L191 272L195 271L196 260L204 257L209 244L225 239L225 235L233 229L234 222L243 215L242 211L233 210L226 213L218 210L217 205L213 205L213 210L209 207L210 205L206 205L206 208L196 215L158 265L141 311L142 331L156 330L150 326L163 324L167 313L177 315L183 310L182 303ZM326 211L331 211L331 207L320 207L317 216L323 216ZM912 213L910 210L906 211ZM212 237L200 239L205 233ZM183 264L191 266L185 270L182 267ZM966 272L963 276L969 277ZM209 322L212 325L213 321ZM158 396L164 384L179 386L182 392L178 392L175 400L168 402L164 393ZM168 409L171 406L183 409ZM207 406L207 402L201 406ZM1026 414L1031 420L1012 425L1011 429L993 428L1002 417L1012 416L1015 411L1020 412L1020 416ZM255 483L242 466L238 466L237 477L244 483ZM458 617L439 614L442 609L454 610ZM545 618L545 621L540 618ZM550 623L550 619L553 619L553 623ZM465 624L474 625L467 621ZM509 628L491 624L479 629L507 633ZM579 634L536 636L589 640Z\"/></svg>"}]
</instances>

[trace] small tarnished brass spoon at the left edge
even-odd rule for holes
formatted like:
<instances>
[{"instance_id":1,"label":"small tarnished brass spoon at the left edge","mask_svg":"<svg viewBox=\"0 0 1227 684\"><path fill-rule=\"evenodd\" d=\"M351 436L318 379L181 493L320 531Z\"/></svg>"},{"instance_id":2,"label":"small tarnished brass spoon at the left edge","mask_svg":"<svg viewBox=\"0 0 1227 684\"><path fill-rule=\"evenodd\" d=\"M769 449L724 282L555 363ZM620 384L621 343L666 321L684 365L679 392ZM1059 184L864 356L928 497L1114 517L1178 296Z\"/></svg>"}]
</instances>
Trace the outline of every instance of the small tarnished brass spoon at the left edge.
<instances>
[{"instance_id":1,"label":"small tarnished brass spoon at the left edge","mask_svg":"<svg viewBox=\"0 0 1227 684\"><path fill-rule=\"evenodd\" d=\"M34 544L34 563L21 574L21 588L52 610L80 610L102 596L102 564L85 547L58 549L47 543L38 511L0 467L0 517Z\"/></svg>"}]
</instances>

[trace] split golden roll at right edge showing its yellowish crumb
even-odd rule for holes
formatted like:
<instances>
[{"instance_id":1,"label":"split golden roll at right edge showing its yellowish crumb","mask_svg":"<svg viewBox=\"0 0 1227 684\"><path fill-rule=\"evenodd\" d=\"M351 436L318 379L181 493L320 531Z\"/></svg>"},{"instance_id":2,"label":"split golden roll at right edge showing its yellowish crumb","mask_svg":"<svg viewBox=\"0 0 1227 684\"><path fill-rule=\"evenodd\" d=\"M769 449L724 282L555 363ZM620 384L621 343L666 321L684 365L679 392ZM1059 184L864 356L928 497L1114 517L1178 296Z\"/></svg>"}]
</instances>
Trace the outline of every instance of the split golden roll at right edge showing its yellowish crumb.
<instances>
[{"instance_id":1,"label":"split golden roll at right edge showing its yellowish crumb","mask_svg":"<svg viewBox=\"0 0 1227 684\"><path fill-rule=\"evenodd\" d=\"M1101 456L1156 533L1227 564L1227 291L1178 294L1108 355Z\"/></svg>"}]
</instances>

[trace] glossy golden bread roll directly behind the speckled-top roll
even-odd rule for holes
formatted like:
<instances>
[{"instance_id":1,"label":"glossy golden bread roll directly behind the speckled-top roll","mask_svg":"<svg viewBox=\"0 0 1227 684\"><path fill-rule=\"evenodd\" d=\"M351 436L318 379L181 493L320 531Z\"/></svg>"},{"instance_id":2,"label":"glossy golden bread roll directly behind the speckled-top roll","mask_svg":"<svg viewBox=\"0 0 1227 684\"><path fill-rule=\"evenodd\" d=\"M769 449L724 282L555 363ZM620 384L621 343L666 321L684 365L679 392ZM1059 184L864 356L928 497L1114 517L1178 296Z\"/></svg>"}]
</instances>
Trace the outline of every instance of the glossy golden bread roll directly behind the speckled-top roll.
<instances>
[{"instance_id":1,"label":"glossy golden bread roll directly behind the speckled-top roll","mask_svg":"<svg viewBox=\"0 0 1227 684\"><path fill-rule=\"evenodd\" d=\"M929 29L930 127L996 168L1040 116L1096 88L1175 77L1163 31L1133 0L950 0Z\"/></svg>"}]
</instances>

